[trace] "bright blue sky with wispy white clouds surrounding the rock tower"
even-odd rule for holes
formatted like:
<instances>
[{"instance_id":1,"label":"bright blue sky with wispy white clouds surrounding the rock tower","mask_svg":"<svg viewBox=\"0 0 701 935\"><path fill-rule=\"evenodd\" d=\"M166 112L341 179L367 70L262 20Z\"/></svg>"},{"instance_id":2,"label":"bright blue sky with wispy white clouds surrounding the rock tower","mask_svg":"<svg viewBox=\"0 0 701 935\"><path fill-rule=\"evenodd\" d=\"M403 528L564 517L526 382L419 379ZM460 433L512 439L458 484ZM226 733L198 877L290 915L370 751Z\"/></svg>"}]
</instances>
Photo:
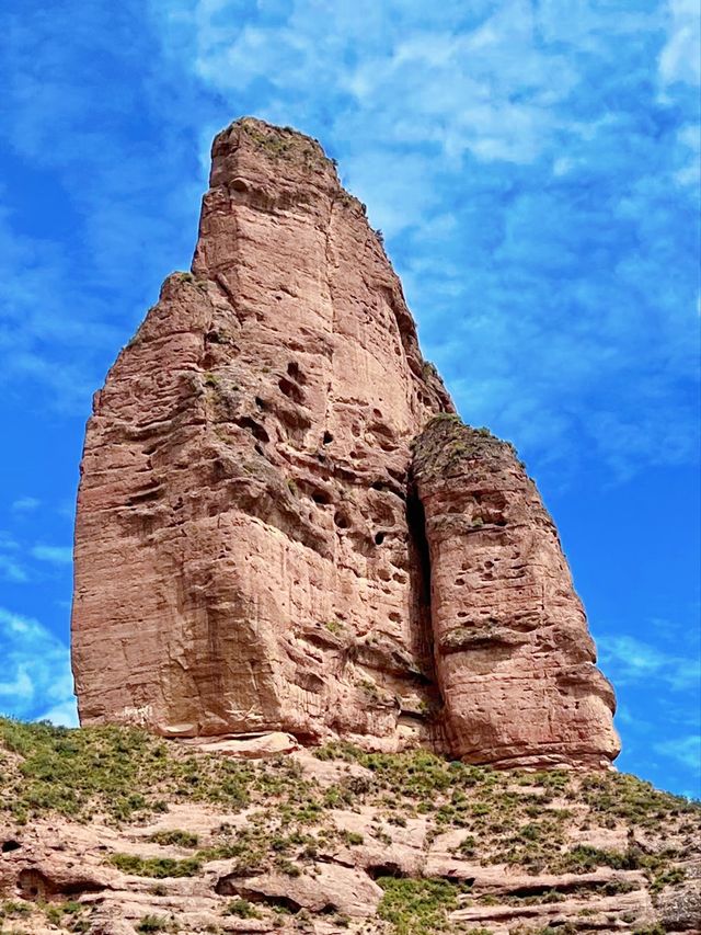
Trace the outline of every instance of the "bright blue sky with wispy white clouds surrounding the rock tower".
<instances>
[{"instance_id":1,"label":"bright blue sky with wispy white clouds surrounding the rock tower","mask_svg":"<svg viewBox=\"0 0 701 935\"><path fill-rule=\"evenodd\" d=\"M619 766L699 795L698 35L696 0L5 0L0 710L74 718L91 395L255 114L338 159L461 414L537 478Z\"/></svg>"}]
</instances>

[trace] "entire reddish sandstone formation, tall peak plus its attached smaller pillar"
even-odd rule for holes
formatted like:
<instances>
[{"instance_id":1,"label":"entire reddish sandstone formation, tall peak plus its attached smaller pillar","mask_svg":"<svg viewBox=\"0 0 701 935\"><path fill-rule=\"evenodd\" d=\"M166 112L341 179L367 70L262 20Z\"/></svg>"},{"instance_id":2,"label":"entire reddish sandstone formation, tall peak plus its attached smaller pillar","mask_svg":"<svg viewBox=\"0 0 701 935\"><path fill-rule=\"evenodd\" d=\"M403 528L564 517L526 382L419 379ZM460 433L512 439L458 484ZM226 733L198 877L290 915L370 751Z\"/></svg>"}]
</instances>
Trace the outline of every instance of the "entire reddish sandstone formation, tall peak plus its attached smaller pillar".
<instances>
[{"instance_id":1,"label":"entire reddish sandstone formation, tall peak plus its attached smaller pillar","mask_svg":"<svg viewBox=\"0 0 701 935\"><path fill-rule=\"evenodd\" d=\"M435 421L455 410L364 206L289 129L237 122L212 160L192 273L88 425L82 722L608 763L613 697L552 522L497 443L445 463L446 425L473 436Z\"/></svg>"}]
</instances>

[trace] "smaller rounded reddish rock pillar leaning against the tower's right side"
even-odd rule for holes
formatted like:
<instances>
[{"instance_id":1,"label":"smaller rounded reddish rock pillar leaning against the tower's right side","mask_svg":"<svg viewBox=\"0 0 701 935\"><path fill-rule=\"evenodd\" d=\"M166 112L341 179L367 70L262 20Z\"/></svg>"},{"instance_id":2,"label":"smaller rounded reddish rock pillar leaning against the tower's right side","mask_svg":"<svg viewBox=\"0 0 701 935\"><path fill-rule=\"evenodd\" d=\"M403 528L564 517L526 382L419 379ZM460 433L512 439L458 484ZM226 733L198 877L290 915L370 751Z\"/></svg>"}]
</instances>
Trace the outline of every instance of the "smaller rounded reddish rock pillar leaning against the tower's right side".
<instances>
[{"instance_id":1,"label":"smaller rounded reddish rock pillar leaning against the tower's right side","mask_svg":"<svg viewBox=\"0 0 701 935\"><path fill-rule=\"evenodd\" d=\"M450 749L499 766L608 765L620 749L613 689L512 445L438 415L417 440L414 474Z\"/></svg>"}]
</instances>

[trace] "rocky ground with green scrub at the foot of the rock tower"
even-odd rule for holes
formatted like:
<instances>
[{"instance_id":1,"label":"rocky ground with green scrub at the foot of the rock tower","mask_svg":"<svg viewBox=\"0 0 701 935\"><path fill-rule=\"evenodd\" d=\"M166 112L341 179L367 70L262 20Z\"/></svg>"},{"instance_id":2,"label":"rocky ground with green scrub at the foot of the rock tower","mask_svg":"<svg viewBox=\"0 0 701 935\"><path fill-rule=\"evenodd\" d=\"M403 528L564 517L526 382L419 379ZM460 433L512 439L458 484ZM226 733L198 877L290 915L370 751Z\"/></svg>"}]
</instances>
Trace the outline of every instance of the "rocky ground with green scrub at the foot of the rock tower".
<instances>
[{"instance_id":1,"label":"rocky ground with green scrub at the foot of the rock tower","mask_svg":"<svg viewBox=\"0 0 701 935\"><path fill-rule=\"evenodd\" d=\"M0 932L699 931L701 809L633 776L208 746L0 720Z\"/></svg>"}]
</instances>

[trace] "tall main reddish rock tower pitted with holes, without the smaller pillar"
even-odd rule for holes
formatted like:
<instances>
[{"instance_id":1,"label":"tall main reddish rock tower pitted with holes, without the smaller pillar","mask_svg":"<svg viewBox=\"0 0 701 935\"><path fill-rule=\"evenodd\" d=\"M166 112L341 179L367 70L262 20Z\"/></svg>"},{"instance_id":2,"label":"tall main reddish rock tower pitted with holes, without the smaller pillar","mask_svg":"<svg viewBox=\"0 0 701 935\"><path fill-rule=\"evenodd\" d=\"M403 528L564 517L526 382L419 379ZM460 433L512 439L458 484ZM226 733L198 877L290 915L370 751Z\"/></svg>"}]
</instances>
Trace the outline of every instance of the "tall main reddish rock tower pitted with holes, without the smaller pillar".
<instances>
[{"instance_id":1,"label":"tall main reddish rock tower pitted with holes, without the smaller pillar","mask_svg":"<svg viewBox=\"0 0 701 935\"><path fill-rule=\"evenodd\" d=\"M214 142L192 274L96 394L76 531L81 720L428 741L410 441L452 403L319 145Z\"/></svg>"}]
</instances>

